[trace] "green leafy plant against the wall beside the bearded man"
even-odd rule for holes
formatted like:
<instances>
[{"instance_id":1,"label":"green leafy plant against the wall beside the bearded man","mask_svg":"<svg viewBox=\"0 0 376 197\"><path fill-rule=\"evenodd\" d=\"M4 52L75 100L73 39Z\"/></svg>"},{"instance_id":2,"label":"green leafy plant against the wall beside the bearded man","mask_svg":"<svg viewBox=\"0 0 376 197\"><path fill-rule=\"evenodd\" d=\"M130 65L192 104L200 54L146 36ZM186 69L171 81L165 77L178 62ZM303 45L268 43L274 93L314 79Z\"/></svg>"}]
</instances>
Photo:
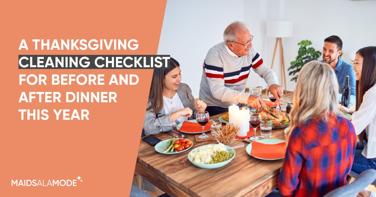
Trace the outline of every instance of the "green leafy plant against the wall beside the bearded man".
<instances>
[{"instance_id":1,"label":"green leafy plant against the wall beside the bearded man","mask_svg":"<svg viewBox=\"0 0 376 197\"><path fill-rule=\"evenodd\" d=\"M317 60L317 58L321 56L320 51L315 51L313 47L307 48L311 44L312 42L309 40L303 40L298 43L298 45L300 45L298 56L296 56L295 61L290 63L290 68L287 69L288 71L292 70L289 72L289 76L297 74L300 69L302 69L303 65L312 60ZM298 75L294 76L290 81L296 81L297 77Z\"/></svg>"}]
</instances>

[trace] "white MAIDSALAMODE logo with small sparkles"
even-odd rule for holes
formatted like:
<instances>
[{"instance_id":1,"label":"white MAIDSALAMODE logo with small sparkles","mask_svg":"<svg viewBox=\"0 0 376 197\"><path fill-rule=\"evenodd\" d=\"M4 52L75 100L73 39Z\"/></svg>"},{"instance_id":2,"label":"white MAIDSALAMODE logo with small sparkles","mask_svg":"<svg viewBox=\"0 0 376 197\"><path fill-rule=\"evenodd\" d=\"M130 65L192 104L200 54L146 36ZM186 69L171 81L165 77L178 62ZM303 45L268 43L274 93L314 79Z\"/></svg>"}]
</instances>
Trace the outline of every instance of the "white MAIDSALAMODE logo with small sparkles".
<instances>
[{"instance_id":1,"label":"white MAIDSALAMODE logo with small sparkles","mask_svg":"<svg viewBox=\"0 0 376 197\"><path fill-rule=\"evenodd\" d=\"M76 179L72 180L30 180L30 179L24 179L24 180L13 180L12 179L12 186L77 186L77 181L82 182L82 179L80 176ZM47 185L45 185L47 183Z\"/></svg>"}]
</instances>

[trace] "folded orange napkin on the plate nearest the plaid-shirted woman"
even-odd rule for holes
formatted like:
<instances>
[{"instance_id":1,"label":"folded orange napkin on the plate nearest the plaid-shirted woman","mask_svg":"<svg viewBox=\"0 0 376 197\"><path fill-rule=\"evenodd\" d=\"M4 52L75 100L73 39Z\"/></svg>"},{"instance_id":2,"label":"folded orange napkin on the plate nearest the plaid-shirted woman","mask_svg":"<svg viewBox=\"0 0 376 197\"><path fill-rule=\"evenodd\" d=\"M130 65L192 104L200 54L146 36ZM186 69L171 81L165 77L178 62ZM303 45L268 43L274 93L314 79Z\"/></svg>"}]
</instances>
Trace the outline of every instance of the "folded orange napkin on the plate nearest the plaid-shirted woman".
<instances>
[{"instance_id":1,"label":"folded orange napkin on the plate nearest the plaid-shirted woman","mask_svg":"<svg viewBox=\"0 0 376 197\"><path fill-rule=\"evenodd\" d=\"M254 141L252 142L251 156L264 159L283 158L285 157L286 149L285 141L278 144L263 144Z\"/></svg>"}]
</instances>

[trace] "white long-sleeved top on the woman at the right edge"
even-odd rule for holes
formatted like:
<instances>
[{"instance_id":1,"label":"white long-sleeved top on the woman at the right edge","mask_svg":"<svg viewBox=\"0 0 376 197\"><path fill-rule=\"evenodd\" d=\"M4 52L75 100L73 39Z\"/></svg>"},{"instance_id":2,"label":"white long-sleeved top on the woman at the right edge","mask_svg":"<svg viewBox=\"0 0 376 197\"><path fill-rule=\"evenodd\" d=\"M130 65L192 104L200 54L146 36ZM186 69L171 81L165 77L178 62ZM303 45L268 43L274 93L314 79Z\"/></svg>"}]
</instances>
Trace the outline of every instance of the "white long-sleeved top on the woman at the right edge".
<instances>
[{"instance_id":1,"label":"white long-sleeved top on the woman at the right edge","mask_svg":"<svg viewBox=\"0 0 376 197\"><path fill-rule=\"evenodd\" d=\"M376 158L376 84L364 93L363 102L358 111L351 116L356 135L363 129L367 134L368 143L362 155L365 158Z\"/></svg>"}]
</instances>

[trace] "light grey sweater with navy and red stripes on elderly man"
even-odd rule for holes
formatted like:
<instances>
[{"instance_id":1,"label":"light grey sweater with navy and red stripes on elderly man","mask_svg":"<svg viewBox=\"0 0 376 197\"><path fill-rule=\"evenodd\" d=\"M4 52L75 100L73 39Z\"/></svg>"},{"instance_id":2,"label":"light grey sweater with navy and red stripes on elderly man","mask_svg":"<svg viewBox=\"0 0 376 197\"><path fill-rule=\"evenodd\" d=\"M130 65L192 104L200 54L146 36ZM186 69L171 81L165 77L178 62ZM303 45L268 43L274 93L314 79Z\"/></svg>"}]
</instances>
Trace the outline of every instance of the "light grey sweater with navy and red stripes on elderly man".
<instances>
[{"instance_id":1,"label":"light grey sweater with navy and red stripes on elderly man","mask_svg":"<svg viewBox=\"0 0 376 197\"><path fill-rule=\"evenodd\" d=\"M251 67L268 86L278 84L276 73L252 47L247 56L238 57L224 42L215 45L203 63L200 99L208 106L224 108L234 103L247 104L249 94L244 90Z\"/></svg>"}]
</instances>

